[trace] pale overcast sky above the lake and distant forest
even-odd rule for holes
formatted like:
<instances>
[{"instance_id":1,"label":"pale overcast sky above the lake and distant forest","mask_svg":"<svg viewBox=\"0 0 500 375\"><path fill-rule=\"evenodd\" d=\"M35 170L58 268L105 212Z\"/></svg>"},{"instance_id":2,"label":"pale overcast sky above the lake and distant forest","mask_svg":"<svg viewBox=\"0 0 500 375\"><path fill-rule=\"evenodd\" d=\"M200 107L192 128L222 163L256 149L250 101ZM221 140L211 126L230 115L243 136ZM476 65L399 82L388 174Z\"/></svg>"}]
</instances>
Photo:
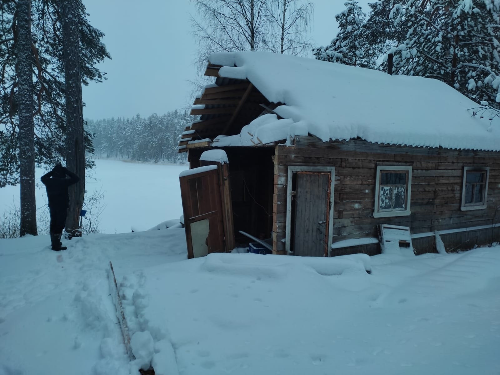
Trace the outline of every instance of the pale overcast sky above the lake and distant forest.
<instances>
[{"instance_id":1,"label":"pale overcast sky above the lake and distant forest","mask_svg":"<svg viewBox=\"0 0 500 375\"><path fill-rule=\"evenodd\" d=\"M360 0L364 12L368 0ZM371 2L371 1L370 1ZM90 23L105 34L111 54L100 68L102 83L83 86L85 118L147 117L181 108L196 79L196 41L191 34L189 0L83 0ZM325 45L336 35L335 14L343 0L313 0L311 38Z\"/></svg>"}]
</instances>

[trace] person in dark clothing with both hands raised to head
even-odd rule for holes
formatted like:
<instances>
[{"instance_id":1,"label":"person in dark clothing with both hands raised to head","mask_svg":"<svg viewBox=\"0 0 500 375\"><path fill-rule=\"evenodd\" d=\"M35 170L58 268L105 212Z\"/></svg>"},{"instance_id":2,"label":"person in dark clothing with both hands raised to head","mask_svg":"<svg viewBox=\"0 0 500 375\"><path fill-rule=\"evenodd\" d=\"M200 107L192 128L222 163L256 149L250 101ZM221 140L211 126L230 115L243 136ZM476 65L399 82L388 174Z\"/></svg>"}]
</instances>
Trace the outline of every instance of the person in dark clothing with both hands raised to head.
<instances>
[{"instance_id":1,"label":"person in dark clothing with both hands raised to head","mask_svg":"<svg viewBox=\"0 0 500 375\"><path fill-rule=\"evenodd\" d=\"M69 178L67 178L69 177ZM68 186L78 182L79 177L63 167L56 164L51 171L41 176L41 182L45 185L48 197L48 209L50 212L50 242L52 250L65 250L61 246L62 229L66 224L67 207L69 205Z\"/></svg>"}]
</instances>

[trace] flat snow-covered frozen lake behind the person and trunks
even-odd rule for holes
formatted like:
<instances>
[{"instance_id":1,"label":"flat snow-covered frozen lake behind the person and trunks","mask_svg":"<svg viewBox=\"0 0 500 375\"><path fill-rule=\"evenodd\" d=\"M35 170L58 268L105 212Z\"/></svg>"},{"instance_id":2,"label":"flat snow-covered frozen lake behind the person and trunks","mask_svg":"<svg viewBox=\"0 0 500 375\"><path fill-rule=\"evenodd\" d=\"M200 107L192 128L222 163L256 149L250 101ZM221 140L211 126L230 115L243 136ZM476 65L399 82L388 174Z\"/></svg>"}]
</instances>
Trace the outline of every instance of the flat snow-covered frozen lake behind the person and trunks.
<instances>
[{"instance_id":1,"label":"flat snow-covered frozen lake behind the person and trunks","mask_svg":"<svg viewBox=\"0 0 500 375\"><path fill-rule=\"evenodd\" d=\"M143 164L120 160L95 160L95 168L85 178L87 196L101 192L104 197L99 225L103 233L126 233L131 228L146 230L182 214L179 173L186 165ZM48 219L45 187L40 177L47 170L36 168L36 207L38 225ZM0 214L19 206L19 186L0 188ZM87 208L87 207L84 207ZM90 217L95 219L94 217Z\"/></svg>"}]
</instances>

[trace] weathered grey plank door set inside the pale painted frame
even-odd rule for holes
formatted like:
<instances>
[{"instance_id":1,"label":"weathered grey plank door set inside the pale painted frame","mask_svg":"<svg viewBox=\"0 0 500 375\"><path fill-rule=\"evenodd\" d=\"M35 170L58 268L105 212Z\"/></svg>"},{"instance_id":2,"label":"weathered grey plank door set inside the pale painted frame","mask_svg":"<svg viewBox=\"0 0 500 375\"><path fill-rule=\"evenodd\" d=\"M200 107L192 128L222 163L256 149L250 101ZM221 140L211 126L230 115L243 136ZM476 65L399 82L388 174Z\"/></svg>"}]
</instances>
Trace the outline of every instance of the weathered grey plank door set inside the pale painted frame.
<instances>
[{"instance_id":1,"label":"weathered grey plank door set inside the pale painted frame","mask_svg":"<svg viewBox=\"0 0 500 375\"><path fill-rule=\"evenodd\" d=\"M296 172L292 223L295 255L328 256L330 185L329 172Z\"/></svg>"}]
</instances>

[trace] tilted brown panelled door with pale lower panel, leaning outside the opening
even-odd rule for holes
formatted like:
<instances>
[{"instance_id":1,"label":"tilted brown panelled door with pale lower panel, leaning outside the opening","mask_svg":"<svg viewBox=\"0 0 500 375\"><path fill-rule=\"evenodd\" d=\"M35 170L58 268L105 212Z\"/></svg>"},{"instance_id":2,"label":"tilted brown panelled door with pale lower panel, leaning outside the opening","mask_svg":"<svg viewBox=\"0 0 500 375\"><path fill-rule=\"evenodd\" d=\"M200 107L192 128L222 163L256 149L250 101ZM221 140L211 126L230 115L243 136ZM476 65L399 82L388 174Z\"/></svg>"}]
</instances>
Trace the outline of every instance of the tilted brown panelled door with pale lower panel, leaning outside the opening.
<instances>
[{"instance_id":1,"label":"tilted brown panelled door with pale lower panel, leaning outside the opening","mask_svg":"<svg viewBox=\"0 0 500 375\"><path fill-rule=\"evenodd\" d=\"M180 177L187 257L224 252L224 228L216 165L189 169Z\"/></svg>"}]
</instances>

